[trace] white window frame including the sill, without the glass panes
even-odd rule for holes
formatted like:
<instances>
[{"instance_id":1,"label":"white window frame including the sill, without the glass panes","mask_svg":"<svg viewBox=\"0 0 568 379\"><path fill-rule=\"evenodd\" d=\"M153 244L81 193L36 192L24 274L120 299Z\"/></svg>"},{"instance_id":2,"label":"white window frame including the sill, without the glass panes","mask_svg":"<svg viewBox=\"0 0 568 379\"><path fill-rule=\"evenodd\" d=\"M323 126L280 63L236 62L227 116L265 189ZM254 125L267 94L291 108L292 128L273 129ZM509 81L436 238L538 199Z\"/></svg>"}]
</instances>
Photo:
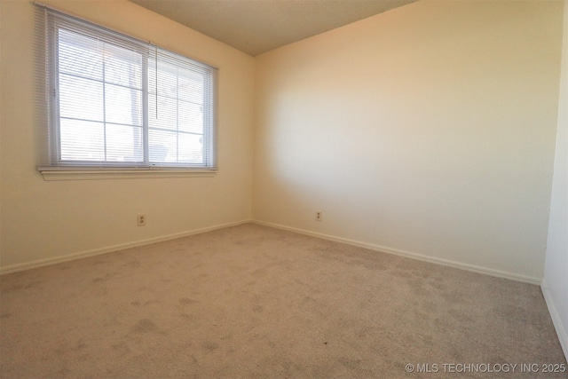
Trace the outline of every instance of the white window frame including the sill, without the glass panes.
<instances>
[{"instance_id":1,"label":"white window frame including the sill, without the glass panes","mask_svg":"<svg viewBox=\"0 0 568 379\"><path fill-rule=\"evenodd\" d=\"M113 30L100 27L88 21L79 20L50 8L44 8L43 17L43 41L44 41L44 58L45 58L45 96L46 96L46 115L49 125L49 142L48 154L43 161L43 165L38 170L43 174L45 180L65 180L65 179L92 179L92 178L170 178L213 176L217 171L217 67L201 63L194 59L186 58L182 55L167 51L157 47L151 43L145 43L130 36L125 36ZM61 157L61 146L59 138L59 61L58 61L58 31L66 29L72 33L85 34L87 36L96 36L105 43L118 45L127 48L130 51L140 53L142 58L142 108L143 108L143 125L144 134L143 142L143 159L136 162L127 161L94 161L94 160L66 160ZM148 133L149 130L157 130L148 121L150 101L158 103L158 91L154 89L153 83L150 83L149 73L150 65L155 65L155 69L159 69L158 65L166 62L177 67L183 67L185 71L195 72L204 78L203 94L203 130L202 130L202 160L201 162L154 162L150 159L150 144ZM154 72L155 72L154 69ZM193 71L195 70L195 71ZM158 80L156 79L156 83ZM154 95L153 95L154 93ZM153 96L155 99L153 99ZM179 98L174 99L179 103ZM160 110L158 110L159 112ZM105 121L106 124L106 121ZM179 136L184 132L179 129L174 130L170 135ZM189 134L189 133L185 133ZM200 136L201 134L198 134ZM176 153L176 157L179 156ZM177 158L178 159L178 158Z\"/></svg>"}]
</instances>

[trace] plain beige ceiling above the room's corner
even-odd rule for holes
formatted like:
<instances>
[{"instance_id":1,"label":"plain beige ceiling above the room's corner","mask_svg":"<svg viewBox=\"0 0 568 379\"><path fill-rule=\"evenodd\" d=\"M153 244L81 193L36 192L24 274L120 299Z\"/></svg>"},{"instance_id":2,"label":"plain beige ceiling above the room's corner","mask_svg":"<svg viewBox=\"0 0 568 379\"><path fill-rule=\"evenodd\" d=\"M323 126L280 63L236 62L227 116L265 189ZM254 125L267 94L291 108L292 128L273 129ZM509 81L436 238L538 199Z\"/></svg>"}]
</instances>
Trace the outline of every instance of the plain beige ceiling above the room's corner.
<instances>
[{"instance_id":1,"label":"plain beige ceiling above the room's corner","mask_svg":"<svg viewBox=\"0 0 568 379\"><path fill-rule=\"evenodd\" d=\"M256 56L416 0L130 0Z\"/></svg>"}]
</instances>

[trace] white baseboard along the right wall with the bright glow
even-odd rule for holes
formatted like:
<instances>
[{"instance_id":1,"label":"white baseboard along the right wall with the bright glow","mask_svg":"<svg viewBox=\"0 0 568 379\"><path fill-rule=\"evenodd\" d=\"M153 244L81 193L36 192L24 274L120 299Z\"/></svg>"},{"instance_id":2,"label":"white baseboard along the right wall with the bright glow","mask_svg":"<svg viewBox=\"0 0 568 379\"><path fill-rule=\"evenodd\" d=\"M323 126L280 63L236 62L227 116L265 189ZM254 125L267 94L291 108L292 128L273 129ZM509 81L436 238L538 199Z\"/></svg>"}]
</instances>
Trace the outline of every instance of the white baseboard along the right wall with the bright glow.
<instances>
[{"instance_id":1,"label":"white baseboard along the right wall with the bright glow","mask_svg":"<svg viewBox=\"0 0 568 379\"><path fill-rule=\"evenodd\" d=\"M483 273L485 275L495 276L497 278L516 280L516 281L521 281L521 282L531 283L531 284L536 284L536 285L540 285L540 282L541 282L540 278L533 278L532 276L525 276L525 275L519 275L517 273L512 273L512 272L504 272L504 271L500 271L500 270L493 270L491 268L481 267L481 266L477 266L477 265L464 264L464 263L461 263L461 262L455 262L455 261L451 261L451 260L443 259L443 258L424 256L422 254L411 253L411 252L405 251L405 250L391 249L391 248L387 248L385 246L375 245L375 244L372 244L372 243L349 240L347 238L341 238L341 237L335 237L335 236L329 235L329 234L311 232L311 231L307 231L307 230L304 230L304 229L297 229L297 228L289 227L289 226L285 226L285 225L272 224L272 223L269 223L269 222L256 221L256 220L253 220L252 222L255 223L255 224L258 224L258 225L271 226L271 227L274 227L274 228L277 228L277 229L287 230L289 232L295 232L295 233L310 235L312 237L318 237L318 238L322 238L324 240L329 240L329 241L342 242L342 243L346 243L348 245L358 246L359 248L371 249L371 250L379 251L379 252L382 252L382 253L393 254L393 255L396 255L396 256L400 256L400 257L417 259L419 261L429 262L429 263L436 264L436 265L445 265L445 266L449 266L449 267L459 268L461 270L466 270L466 271L469 271L469 272Z\"/></svg>"}]
</instances>

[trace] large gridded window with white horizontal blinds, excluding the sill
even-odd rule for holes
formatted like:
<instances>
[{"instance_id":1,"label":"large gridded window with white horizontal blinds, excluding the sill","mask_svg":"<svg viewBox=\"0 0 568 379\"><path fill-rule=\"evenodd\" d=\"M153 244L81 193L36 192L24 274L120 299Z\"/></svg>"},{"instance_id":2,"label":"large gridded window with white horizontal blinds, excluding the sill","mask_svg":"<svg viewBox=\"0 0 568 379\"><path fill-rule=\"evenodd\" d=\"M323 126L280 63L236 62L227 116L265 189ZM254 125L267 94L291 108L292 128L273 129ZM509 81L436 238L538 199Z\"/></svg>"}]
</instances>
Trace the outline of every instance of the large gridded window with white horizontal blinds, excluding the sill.
<instances>
[{"instance_id":1,"label":"large gridded window with white horizontal blinds, excluding the sill","mask_svg":"<svg viewBox=\"0 0 568 379\"><path fill-rule=\"evenodd\" d=\"M45 21L51 169L216 169L216 68L49 9Z\"/></svg>"}]
</instances>

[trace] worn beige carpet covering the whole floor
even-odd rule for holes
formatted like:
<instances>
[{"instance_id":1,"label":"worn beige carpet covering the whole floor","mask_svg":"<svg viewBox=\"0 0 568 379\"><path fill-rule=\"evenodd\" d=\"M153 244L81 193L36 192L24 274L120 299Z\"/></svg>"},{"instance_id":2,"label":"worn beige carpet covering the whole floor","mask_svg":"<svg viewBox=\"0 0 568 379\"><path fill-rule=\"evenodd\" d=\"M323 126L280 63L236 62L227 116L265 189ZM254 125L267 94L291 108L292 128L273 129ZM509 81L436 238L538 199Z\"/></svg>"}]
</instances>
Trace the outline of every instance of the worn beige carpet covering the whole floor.
<instances>
[{"instance_id":1,"label":"worn beige carpet covering the whole floor","mask_svg":"<svg viewBox=\"0 0 568 379\"><path fill-rule=\"evenodd\" d=\"M568 376L538 286L260 225L0 281L2 378Z\"/></svg>"}]
</instances>

